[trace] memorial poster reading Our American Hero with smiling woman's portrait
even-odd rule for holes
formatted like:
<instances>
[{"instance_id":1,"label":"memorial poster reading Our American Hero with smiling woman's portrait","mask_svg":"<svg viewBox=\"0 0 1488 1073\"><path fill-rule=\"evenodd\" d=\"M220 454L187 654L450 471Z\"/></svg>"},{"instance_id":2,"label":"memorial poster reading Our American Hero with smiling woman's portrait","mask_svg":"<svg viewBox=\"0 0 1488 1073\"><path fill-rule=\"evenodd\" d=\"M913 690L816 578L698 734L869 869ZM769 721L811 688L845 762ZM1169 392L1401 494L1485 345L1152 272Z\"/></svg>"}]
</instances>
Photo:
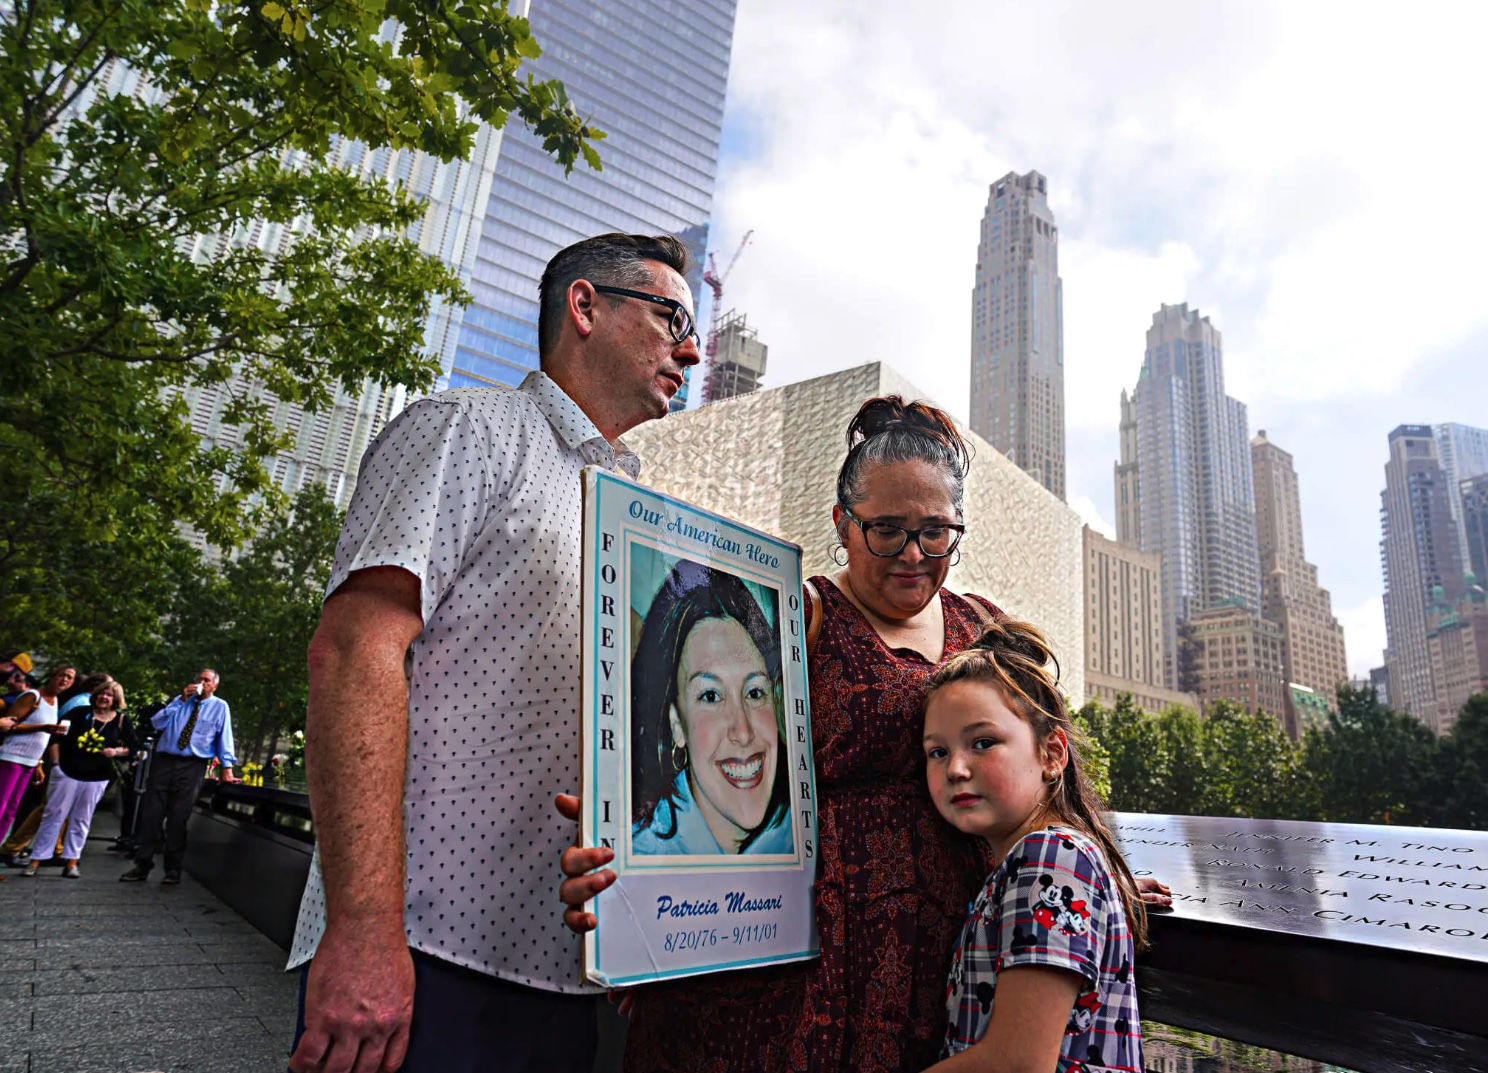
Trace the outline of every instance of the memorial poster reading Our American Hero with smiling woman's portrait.
<instances>
[{"instance_id":1,"label":"memorial poster reading Our American Hero with smiling woman's portrait","mask_svg":"<svg viewBox=\"0 0 1488 1073\"><path fill-rule=\"evenodd\" d=\"M801 549L583 472L585 845L606 987L817 954Z\"/></svg>"}]
</instances>

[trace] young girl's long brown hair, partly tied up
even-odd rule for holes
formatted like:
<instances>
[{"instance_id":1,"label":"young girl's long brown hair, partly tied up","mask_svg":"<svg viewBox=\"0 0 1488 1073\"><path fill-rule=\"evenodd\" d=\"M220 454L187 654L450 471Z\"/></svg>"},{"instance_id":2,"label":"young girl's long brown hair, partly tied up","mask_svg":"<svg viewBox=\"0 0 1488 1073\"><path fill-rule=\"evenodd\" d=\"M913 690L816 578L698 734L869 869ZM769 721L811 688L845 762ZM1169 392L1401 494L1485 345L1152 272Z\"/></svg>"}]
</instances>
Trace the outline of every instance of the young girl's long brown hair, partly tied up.
<instances>
[{"instance_id":1,"label":"young girl's long brown hair, partly tied up","mask_svg":"<svg viewBox=\"0 0 1488 1073\"><path fill-rule=\"evenodd\" d=\"M1054 664L1054 674L1049 673ZM1055 659L1048 638L1027 622L1007 616L995 618L982 630L976 643L948 659L930 679L926 704L936 691L952 682L990 682L1001 689L1009 707L1033 728L1034 741L1048 741L1055 729L1064 731L1070 743L1064 771L1054 781L1054 792L1046 805L1046 816L1074 827L1106 856L1120 888L1126 909L1126 927L1137 949L1147 945L1147 911L1137 893L1137 881L1126 866L1116 838L1106 823L1106 802L1097 793L1080 763L1080 746L1085 740L1080 728L1070 719L1070 710L1059 692L1059 661Z\"/></svg>"}]
</instances>

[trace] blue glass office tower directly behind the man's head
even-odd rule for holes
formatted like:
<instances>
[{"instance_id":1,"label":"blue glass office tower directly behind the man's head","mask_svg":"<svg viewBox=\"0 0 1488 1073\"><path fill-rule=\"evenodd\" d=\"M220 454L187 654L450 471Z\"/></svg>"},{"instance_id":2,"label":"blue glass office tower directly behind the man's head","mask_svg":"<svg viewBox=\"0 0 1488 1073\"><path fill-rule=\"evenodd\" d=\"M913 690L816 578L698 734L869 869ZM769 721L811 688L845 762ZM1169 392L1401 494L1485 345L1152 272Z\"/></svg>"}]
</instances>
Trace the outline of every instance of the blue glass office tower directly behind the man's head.
<instances>
[{"instance_id":1,"label":"blue glass office tower directly behind the man's head","mask_svg":"<svg viewBox=\"0 0 1488 1073\"><path fill-rule=\"evenodd\" d=\"M683 240L702 283L713 213L735 0L533 0L543 55L524 64L561 79L609 134L604 171L564 177L516 122L503 132L449 387L515 385L537 368L537 281L564 246L607 231ZM686 405L687 387L673 399Z\"/></svg>"}]
</instances>

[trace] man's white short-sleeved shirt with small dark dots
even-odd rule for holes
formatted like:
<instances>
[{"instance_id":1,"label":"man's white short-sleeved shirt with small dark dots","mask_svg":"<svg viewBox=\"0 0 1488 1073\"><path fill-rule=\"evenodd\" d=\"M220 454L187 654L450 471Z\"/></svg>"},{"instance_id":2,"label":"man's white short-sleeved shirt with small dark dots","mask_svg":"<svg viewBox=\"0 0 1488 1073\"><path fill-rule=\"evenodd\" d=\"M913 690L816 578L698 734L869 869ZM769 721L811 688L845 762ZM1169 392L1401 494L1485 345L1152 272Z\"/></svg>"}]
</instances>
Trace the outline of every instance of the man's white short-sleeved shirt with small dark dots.
<instances>
[{"instance_id":1,"label":"man's white short-sleeved shirt with small dark dots","mask_svg":"<svg viewBox=\"0 0 1488 1073\"><path fill-rule=\"evenodd\" d=\"M568 993L585 990L580 941L558 912L573 824L552 799L579 787L579 472L589 464L640 472L540 372L515 391L415 402L362 460L326 586L330 595L368 567L421 579L403 792L409 945ZM323 930L317 856L290 967Z\"/></svg>"}]
</instances>

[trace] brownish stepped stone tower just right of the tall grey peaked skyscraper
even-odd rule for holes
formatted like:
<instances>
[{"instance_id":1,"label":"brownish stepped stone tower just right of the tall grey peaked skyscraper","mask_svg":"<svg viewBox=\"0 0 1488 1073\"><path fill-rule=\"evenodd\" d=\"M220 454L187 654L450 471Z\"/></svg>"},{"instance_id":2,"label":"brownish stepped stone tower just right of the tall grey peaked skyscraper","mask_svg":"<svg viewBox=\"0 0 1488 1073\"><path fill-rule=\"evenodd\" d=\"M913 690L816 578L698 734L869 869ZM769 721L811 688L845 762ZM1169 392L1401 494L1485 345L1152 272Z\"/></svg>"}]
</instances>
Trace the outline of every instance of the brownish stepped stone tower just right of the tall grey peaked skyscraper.
<instances>
[{"instance_id":1,"label":"brownish stepped stone tower just right of the tall grey peaked skyscraper","mask_svg":"<svg viewBox=\"0 0 1488 1073\"><path fill-rule=\"evenodd\" d=\"M1292 455L1256 433L1250 441L1256 484L1256 539L1260 551L1260 613L1281 627L1281 667L1287 685L1299 685L1336 704L1338 685L1348 680L1344 628L1333 601L1317 583L1317 567L1302 551L1302 497ZM1305 711L1287 694L1287 729L1298 737Z\"/></svg>"}]
</instances>

